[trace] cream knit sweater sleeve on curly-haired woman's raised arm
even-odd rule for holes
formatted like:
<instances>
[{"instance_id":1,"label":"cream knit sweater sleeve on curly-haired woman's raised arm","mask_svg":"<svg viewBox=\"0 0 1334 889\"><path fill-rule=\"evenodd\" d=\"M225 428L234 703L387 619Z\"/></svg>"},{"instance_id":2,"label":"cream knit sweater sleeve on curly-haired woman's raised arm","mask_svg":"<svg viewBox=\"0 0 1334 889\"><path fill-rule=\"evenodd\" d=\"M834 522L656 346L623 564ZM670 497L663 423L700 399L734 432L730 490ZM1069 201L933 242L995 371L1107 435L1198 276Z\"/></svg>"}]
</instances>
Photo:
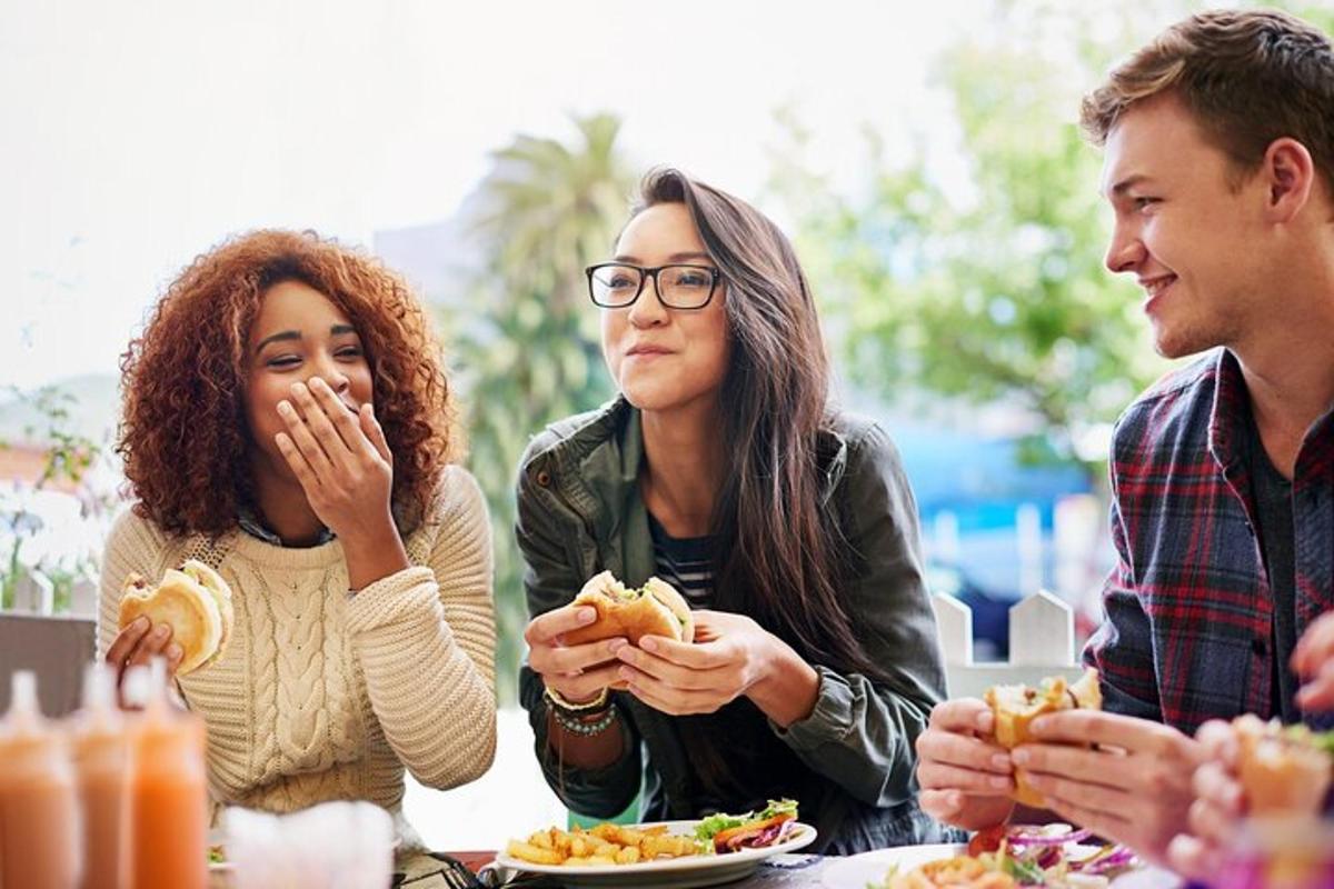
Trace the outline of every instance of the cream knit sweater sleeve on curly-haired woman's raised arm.
<instances>
[{"instance_id":1,"label":"cream knit sweater sleeve on curly-haired woman's raised arm","mask_svg":"<svg viewBox=\"0 0 1334 889\"><path fill-rule=\"evenodd\" d=\"M482 489L458 466L442 486L428 564L356 593L347 616L386 740L418 781L447 789L495 757L495 609Z\"/></svg>"}]
</instances>

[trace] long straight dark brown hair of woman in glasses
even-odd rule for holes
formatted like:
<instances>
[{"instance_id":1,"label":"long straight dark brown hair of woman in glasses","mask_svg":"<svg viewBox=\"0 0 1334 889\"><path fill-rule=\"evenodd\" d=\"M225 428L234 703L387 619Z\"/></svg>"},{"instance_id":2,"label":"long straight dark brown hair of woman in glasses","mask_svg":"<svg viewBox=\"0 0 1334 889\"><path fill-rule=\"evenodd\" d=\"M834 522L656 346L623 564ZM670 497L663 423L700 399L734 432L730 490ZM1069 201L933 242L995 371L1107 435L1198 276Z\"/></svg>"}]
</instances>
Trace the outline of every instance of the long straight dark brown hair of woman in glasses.
<instances>
[{"instance_id":1,"label":"long straight dark brown hair of woman in glasses","mask_svg":"<svg viewBox=\"0 0 1334 889\"><path fill-rule=\"evenodd\" d=\"M883 677L839 589L850 553L822 506L828 360L811 288L787 236L750 204L654 169L635 213L684 204L727 285L731 364L719 401L730 465L714 505L714 590L806 658ZM828 457L828 454L824 454Z\"/></svg>"}]
</instances>

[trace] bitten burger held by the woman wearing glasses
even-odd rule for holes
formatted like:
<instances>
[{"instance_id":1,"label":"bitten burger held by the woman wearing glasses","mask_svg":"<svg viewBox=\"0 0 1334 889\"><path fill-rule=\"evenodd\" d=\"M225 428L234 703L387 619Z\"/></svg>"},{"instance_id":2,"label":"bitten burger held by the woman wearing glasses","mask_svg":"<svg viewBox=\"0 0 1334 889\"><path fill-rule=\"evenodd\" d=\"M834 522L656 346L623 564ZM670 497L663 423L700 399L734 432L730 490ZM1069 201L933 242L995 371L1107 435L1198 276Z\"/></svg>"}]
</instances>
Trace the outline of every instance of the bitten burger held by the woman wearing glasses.
<instances>
[{"instance_id":1,"label":"bitten burger held by the woman wearing glasses","mask_svg":"<svg viewBox=\"0 0 1334 889\"><path fill-rule=\"evenodd\" d=\"M648 582L627 589L610 570L604 570L579 590L575 605L588 605L598 618L587 626L564 634L566 645L582 645L622 636L638 645L644 636L666 636L678 642L695 641L695 617L686 598L667 581L650 577ZM616 682L612 688L624 689Z\"/></svg>"}]
</instances>

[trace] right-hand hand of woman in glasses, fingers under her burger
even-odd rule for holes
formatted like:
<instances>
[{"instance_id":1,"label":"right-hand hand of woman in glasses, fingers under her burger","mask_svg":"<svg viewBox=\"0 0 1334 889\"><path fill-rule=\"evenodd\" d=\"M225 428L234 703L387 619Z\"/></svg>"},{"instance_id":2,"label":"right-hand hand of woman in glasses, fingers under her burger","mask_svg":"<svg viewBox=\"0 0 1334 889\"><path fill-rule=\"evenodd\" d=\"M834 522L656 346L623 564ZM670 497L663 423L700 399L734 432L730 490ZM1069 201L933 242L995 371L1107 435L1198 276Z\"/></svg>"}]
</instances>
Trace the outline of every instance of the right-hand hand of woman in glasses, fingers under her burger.
<instances>
[{"instance_id":1,"label":"right-hand hand of woman in glasses, fingers under her burger","mask_svg":"<svg viewBox=\"0 0 1334 889\"><path fill-rule=\"evenodd\" d=\"M630 693L663 713L712 713L742 694L779 725L815 705L819 674L744 614L694 612L695 641L644 636L616 652Z\"/></svg>"}]
</instances>

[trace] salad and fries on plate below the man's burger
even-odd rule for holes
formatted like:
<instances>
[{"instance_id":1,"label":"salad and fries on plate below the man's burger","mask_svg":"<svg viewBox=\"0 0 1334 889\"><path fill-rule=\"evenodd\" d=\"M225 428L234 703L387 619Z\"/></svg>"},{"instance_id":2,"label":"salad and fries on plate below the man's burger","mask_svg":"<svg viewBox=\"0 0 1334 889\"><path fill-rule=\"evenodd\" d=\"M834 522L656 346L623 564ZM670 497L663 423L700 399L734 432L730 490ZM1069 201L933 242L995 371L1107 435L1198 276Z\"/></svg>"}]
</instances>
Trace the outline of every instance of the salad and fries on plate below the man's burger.
<instances>
[{"instance_id":1,"label":"salad and fries on plate below the man's burger","mask_svg":"<svg viewBox=\"0 0 1334 889\"><path fill-rule=\"evenodd\" d=\"M930 861L900 873L891 868L884 882L867 889L1103 889L1114 877L1139 866L1122 845L1081 845L1089 830L1069 824L1045 826L998 825L978 832L967 854Z\"/></svg>"}]
</instances>

